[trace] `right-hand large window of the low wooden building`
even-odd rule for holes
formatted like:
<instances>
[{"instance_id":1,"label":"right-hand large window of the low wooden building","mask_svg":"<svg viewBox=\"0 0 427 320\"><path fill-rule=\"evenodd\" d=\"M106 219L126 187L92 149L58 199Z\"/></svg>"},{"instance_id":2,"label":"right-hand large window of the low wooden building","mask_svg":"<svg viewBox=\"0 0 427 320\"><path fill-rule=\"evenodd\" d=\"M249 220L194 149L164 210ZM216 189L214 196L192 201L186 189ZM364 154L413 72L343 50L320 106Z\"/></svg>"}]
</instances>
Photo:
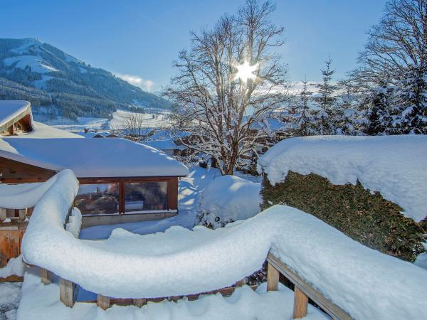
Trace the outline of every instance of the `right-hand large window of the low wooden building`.
<instances>
[{"instance_id":1,"label":"right-hand large window of the low wooden building","mask_svg":"<svg viewBox=\"0 0 427 320\"><path fill-rule=\"evenodd\" d=\"M167 210L167 181L126 182L125 212Z\"/></svg>"}]
</instances>

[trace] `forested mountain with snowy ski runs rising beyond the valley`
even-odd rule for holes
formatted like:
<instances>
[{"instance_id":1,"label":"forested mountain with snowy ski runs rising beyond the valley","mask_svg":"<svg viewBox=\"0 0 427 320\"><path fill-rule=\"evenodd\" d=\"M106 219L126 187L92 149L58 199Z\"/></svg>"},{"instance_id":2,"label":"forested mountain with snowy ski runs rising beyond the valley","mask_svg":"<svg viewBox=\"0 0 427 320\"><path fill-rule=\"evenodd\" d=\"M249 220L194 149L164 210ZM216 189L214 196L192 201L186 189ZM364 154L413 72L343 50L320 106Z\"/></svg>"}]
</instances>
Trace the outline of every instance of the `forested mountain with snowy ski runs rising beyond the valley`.
<instances>
[{"instance_id":1,"label":"forested mountain with snowy ski runs rising beyond the valley","mask_svg":"<svg viewBox=\"0 0 427 320\"><path fill-rule=\"evenodd\" d=\"M169 109L167 100L33 38L0 39L0 98L55 106L71 119L110 117L130 105Z\"/></svg>"}]
</instances>

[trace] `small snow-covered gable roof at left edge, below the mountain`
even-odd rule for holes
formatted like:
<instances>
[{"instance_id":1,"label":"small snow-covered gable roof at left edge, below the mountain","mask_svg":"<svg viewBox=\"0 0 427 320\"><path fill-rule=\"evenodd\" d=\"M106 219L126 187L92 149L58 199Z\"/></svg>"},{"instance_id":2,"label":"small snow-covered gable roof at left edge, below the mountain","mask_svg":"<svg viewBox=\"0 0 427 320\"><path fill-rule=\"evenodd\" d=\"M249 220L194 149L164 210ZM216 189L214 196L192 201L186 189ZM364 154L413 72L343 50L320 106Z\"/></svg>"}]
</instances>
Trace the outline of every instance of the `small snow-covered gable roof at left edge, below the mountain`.
<instances>
[{"instance_id":1,"label":"small snow-covered gable roof at left edge, below the mountain","mask_svg":"<svg viewBox=\"0 0 427 320\"><path fill-rule=\"evenodd\" d=\"M30 102L24 100L0 100L0 132L8 129L27 114L31 114Z\"/></svg>"}]
</instances>

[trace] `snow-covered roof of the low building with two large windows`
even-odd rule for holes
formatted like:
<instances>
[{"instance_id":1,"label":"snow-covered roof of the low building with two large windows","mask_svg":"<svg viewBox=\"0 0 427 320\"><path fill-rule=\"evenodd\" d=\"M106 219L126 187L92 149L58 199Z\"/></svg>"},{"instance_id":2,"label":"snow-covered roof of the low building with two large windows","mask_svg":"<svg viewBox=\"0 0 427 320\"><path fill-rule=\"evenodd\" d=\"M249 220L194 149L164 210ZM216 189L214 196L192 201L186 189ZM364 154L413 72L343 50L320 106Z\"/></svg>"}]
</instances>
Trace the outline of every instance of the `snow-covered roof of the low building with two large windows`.
<instances>
[{"instance_id":1,"label":"snow-covered roof of the low building with two large windows","mask_svg":"<svg viewBox=\"0 0 427 320\"><path fill-rule=\"evenodd\" d=\"M0 156L83 178L186 176L184 164L127 139L0 139Z\"/></svg>"}]
</instances>

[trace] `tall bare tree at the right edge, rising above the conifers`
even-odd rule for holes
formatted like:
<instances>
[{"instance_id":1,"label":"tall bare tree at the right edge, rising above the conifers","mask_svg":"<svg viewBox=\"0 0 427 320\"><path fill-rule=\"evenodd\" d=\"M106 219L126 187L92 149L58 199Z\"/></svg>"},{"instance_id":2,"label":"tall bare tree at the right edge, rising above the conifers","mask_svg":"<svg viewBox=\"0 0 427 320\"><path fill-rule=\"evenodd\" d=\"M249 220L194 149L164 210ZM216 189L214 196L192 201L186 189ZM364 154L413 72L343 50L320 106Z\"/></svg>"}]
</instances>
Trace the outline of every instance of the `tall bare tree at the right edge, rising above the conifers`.
<instances>
[{"instance_id":1,"label":"tall bare tree at the right edge, rising above the conifers","mask_svg":"<svg viewBox=\"0 0 427 320\"><path fill-rule=\"evenodd\" d=\"M396 93L396 133L427 133L427 0L389 0L360 55L362 75Z\"/></svg>"}]
</instances>

